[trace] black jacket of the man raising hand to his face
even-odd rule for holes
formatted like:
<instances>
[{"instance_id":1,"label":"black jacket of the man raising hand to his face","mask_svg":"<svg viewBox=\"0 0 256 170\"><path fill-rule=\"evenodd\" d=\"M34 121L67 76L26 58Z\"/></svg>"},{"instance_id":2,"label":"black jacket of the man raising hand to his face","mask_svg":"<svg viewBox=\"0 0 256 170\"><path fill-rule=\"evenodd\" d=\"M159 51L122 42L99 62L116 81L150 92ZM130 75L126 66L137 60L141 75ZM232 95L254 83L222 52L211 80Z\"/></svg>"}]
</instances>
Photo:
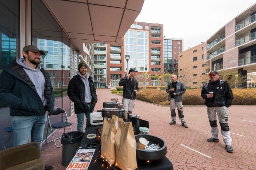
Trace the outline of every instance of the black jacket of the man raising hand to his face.
<instances>
[{"instance_id":1,"label":"black jacket of the man raising hand to his face","mask_svg":"<svg viewBox=\"0 0 256 170\"><path fill-rule=\"evenodd\" d=\"M128 99L136 99L136 94L134 93L134 90L139 91L139 87L138 87L138 81L133 78L134 81L131 81L131 78L129 78L129 80L127 79L127 77L122 78L119 82L119 86L124 86L124 90L123 90L123 97L124 98L128 98Z\"/></svg>"}]
</instances>

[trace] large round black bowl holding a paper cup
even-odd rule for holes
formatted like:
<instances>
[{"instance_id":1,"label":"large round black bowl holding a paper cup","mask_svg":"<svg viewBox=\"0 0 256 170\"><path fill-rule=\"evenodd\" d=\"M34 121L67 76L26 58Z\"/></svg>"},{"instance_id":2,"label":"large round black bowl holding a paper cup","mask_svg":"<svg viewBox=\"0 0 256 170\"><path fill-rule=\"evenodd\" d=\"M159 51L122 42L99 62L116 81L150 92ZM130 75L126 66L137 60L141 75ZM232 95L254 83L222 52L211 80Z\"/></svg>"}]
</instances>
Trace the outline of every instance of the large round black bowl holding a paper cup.
<instances>
[{"instance_id":1,"label":"large round black bowl holding a paper cup","mask_svg":"<svg viewBox=\"0 0 256 170\"><path fill-rule=\"evenodd\" d=\"M148 141L152 141L158 143L160 145L160 149L155 151L145 151L143 149L136 148L136 157L141 160L149 160L154 161L163 158L167 153L166 143L163 139L153 136L153 135L146 135L146 134L138 134L135 135L135 140L139 141L139 138L145 138Z\"/></svg>"}]
</instances>

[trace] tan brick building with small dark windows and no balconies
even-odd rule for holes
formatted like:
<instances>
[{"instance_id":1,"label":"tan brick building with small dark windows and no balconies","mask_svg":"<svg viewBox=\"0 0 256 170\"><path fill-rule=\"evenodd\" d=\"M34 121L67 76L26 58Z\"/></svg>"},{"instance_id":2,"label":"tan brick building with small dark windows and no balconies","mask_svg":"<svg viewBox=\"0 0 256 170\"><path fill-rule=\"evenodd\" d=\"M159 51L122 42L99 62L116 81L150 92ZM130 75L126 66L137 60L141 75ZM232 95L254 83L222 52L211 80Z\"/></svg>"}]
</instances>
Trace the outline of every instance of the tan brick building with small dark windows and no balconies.
<instances>
[{"instance_id":1,"label":"tan brick building with small dark windows and no balconies","mask_svg":"<svg viewBox=\"0 0 256 170\"><path fill-rule=\"evenodd\" d=\"M201 43L179 53L179 81L185 86L199 88L208 79L207 73L210 66L205 63L204 48L206 43Z\"/></svg>"}]
</instances>

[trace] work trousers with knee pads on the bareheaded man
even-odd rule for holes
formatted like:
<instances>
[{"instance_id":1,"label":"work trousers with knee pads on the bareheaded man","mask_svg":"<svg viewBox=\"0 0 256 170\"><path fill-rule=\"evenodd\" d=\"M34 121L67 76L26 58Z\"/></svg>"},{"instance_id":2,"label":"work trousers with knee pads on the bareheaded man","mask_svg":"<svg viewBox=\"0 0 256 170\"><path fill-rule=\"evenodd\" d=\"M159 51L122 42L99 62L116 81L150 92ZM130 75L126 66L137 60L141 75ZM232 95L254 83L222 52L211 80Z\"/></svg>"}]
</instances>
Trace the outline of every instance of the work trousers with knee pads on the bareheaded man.
<instances>
[{"instance_id":1,"label":"work trousers with knee pads on the bareheaded man","mask_svg":"<svg viewBox=\"0 0 256 170\"><path fill-rule=\"evenodd\" d=\"M170 109L171 109L172 120L176 122L175 108L177 107L180 122L181 123L186 123L186 119L184 118L184 114L183 114L182 102L177 102L177 101L175 101L174 98L171 98L169 106L170 106Z\"/></svg>"}]
</instances>

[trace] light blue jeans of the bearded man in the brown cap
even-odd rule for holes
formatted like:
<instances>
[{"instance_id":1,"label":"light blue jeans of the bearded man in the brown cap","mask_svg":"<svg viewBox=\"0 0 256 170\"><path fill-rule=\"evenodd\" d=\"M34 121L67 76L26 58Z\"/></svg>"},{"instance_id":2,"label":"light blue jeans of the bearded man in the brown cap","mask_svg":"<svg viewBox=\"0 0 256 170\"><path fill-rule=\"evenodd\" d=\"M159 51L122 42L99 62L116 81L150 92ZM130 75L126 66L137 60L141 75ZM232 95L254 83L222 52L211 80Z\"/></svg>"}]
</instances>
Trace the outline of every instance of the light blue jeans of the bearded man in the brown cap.
<instances>
[{"instance_id":1,"label":"light blue jeans of the bearded man in the brown cap","mask_svg":"<svg viewBox=\"0 0 256 170\"><path fill-rule=\"evenodd\" d=\"M12 116L13 146L27 144L31 135L31 142L38 142L41 152L46 121L46 114L43 116Z\"/></svg>"}]
</instances>

